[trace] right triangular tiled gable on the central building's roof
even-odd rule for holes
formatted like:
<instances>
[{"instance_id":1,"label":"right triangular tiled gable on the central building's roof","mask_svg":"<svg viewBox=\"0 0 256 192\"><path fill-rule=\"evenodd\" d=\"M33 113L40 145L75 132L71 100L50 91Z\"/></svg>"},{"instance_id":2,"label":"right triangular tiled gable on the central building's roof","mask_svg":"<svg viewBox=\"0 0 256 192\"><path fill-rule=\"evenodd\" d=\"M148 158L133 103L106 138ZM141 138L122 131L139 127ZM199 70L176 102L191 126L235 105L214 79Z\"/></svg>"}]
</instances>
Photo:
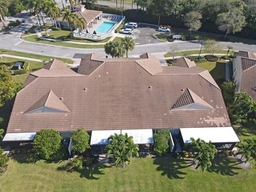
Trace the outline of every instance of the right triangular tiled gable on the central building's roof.
<instances>
[{"instance_id":1,"label":"right triangular tiled gable on the central building's roof","mask_svg":"<svg viewBox=\"0 0 256 192\"><path fill-rule=\"evenodd\" d=\"M204 101L201 97L199 97L196 93L191 91L190 89L186 89L180 96L180 98L174 103L172 106L172 110L178 109L197 109L194 106L189 106L190 104L196 103L197 105L201 106L201 109L213 109L209 103ZM188 106L187 108L182 108ZM199 107L198 106L198 107Z\"/></svg>"}]
</instances>

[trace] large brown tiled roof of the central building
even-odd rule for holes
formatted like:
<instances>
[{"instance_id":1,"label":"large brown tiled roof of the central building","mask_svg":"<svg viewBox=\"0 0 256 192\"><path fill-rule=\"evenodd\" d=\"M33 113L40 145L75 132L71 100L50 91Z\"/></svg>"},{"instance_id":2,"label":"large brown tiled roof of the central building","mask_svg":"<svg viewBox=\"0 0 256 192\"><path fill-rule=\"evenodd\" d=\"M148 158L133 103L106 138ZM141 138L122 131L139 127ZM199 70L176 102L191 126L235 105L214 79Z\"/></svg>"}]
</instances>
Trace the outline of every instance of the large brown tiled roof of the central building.
<instances>
[{"instance_id":1,"label":"large brown tiled roof of the central building","mask_svg":"<svg viewBox=\"0 0 256 192\"><path fill-rule=\"evenodd\" d=\"M7 133L230 126L221 91L207 70L161 67L151 54L114 59L91 54L81 61L81 74L65 70L72 72L63 75L64 69L40 69L33 73L38 77L15 98ZM195 103L212 108L171 110L187 89ZM53 107L53 103L49 107L70 112L26 113L42 107L50 91L56 95L54 102L66 107Z\"/></svg>"}]
</instances>

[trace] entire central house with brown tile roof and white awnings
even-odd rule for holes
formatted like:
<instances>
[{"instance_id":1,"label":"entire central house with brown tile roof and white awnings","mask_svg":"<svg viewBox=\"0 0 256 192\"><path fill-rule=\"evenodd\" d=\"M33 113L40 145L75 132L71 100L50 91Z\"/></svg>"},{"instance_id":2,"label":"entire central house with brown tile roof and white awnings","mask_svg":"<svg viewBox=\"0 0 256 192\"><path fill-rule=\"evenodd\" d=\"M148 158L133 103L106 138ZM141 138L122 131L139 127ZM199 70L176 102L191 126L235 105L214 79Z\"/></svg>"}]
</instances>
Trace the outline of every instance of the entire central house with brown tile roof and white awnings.
<instances>
[{"instance_id":1,"label":"entire central house with brown tile roof and white awnings","mask_svg":"<svg viewBox=\"0 0 256 192\"><path fill-rule=\"evenodd\" d=\"M52 60L29 75L17 93L3 139L11 148L33 142L42 129L63 139L79 127L91 135L93 154L106 153L108 137L127 133L150 150L157 130L170 130L171 150L201 138L219 150L239 139L231 127L221 90L209 71L178 59L161 66L154 55L100 58L89 54L78 69Z\"/></svg>"}]
</instances>

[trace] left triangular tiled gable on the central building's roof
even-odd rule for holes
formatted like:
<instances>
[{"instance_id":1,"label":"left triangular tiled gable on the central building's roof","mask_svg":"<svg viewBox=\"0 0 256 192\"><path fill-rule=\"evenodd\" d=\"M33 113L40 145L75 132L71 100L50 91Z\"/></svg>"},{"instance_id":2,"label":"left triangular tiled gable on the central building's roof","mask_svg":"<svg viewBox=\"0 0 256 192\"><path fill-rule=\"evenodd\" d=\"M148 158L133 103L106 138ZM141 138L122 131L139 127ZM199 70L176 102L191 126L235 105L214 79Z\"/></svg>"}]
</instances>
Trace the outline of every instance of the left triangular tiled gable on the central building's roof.
<instances>
[{"instance_id":1,"label":"left triangular tiled gable on the central building's roof","mask_svg":"<svg viewBox=\"0 0 256 192\"><path fill-rule=\"evenodd\" d=\"M67 106L57 97L57 95L55 95L52 90L34 103L34 105L31 106L25 113L33 113L33 111L42 107L48 107L62 112L70 112Z\"/></svg>"}]
</instances>

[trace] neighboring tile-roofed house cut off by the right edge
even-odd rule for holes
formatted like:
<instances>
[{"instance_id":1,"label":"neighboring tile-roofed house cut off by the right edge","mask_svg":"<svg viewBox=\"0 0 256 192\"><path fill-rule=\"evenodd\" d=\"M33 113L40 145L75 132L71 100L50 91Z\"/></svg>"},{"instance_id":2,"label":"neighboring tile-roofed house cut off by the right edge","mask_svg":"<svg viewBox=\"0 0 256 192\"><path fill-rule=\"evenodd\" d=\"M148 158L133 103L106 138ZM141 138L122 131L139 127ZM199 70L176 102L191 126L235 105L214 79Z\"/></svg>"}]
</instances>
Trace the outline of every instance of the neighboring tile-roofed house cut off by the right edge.
<instances>
[{"instance_id":1,"label":"neighboring tile-roofed house cut off by the right edge","mask_svg":"<svg viewBox=\"0 0 256 192\"><path fill-rule=\"evenodd\" d=\"M256 102L256 55L245 51L235 52L233 78L237 92L248 93Z\"/></svg>"}]
</instances>

